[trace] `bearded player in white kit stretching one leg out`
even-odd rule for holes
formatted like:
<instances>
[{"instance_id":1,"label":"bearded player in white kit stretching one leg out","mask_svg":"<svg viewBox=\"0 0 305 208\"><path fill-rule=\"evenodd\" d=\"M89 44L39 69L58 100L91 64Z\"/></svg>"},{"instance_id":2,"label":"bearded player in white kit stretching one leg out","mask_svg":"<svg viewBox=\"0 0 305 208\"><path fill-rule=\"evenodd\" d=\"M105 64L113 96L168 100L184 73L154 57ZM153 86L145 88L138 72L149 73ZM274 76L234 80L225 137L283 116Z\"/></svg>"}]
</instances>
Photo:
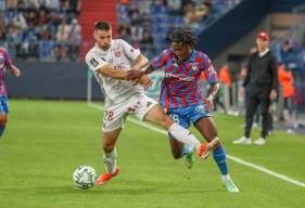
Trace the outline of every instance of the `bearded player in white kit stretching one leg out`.
<instances>
[{"instance_id":1,"label":"bearded player in white kit stretching one leg out","mask_svg":"<svg viewBox=\"0 0 305 208\"><path fill-rule=\"evenodd\" d=\"M147 76L138 80L139 84L125 80L127 70L141 69L149 63L140 50L122 39L112 39L111 25L105 22L96 23L93 38L97 43L87 53L86 63L105 93L102 144L106 172L97 180L97 184L105 183L119 172L115 143L128 114L162 126L177 141L188 144L205 159L215 144L201 144L189 130L175 123L160 104L144 95L141 86L148 88L152 83Z\"/></svg>"}]
</instances>

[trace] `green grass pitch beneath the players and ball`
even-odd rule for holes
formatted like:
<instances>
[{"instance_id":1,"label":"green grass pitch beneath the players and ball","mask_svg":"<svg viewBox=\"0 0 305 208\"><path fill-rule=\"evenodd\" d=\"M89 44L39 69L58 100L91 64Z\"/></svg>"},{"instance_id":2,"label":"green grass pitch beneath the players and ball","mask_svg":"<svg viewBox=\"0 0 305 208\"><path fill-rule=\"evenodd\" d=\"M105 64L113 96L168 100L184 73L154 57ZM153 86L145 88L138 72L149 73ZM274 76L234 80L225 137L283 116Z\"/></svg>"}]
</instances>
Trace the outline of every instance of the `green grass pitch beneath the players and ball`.
<instances>
[{"instance_id":1,"label":"green grass pitch beneath the players and ball","mask_svg":"<svg viewBox=\"0 0 305 208\"><path fill-rule=\"evenodd\" d=\"M85 102L11 100L0 139L0 208L279 208L305 207L305 187L228 160L241 192L228 193L209 157L192 169L174 160L168 139L127 122L117 143L120 173L107 184L78 190L79 165L104 171L102 112ZM239 146L242 117L215 115L229 155L305 182L305 138L277 131L266 146ZM195 131L193 131L195 132ZM199 135L195 132L196 135ZM253 138L259 132L254 131Z\"/></svg>"}]
</instances>

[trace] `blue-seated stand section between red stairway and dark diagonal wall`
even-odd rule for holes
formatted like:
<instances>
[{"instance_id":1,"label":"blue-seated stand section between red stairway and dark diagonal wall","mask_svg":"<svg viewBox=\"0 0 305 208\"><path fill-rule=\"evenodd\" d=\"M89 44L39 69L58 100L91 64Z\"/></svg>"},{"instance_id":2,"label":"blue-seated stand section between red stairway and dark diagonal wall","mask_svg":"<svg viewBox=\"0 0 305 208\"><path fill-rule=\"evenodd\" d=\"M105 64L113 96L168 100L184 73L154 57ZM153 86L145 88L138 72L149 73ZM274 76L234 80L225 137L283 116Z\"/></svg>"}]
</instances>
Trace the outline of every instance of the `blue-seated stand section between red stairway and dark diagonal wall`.
<instances>
[{"instance_id":1,"label":"blue-seated stand section between red stairway and dark diagonal wall","mask_svg":"<svg viewBox=\"0 0 305 208\"><path fill-rule=\"evenodd\" d=\"M123 1L117 9L118 37L140 47L144 54L152 57L167 44L168 35L176 27L188 25L200 32L204 24L217 18L240 1Z\"/></svg>"}]
</instances>

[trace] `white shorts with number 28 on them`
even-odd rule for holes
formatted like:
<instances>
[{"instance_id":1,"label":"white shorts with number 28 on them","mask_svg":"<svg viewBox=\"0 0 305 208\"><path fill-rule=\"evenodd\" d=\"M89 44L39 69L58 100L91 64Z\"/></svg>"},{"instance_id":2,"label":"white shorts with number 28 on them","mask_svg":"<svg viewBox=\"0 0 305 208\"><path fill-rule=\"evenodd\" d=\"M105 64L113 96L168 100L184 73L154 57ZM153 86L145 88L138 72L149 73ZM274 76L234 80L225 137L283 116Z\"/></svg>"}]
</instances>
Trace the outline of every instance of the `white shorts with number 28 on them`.
<instances>
[{"instance_id":1,"label":"white shorts with number 28 on them","mask_svg":"<svg viewBox=\"0 0 305 208\"><path fill-rule=\"evenodd\" d=\"M126 101L117 104L106 104L102 125L103 132L114 131L124 128L126 117L129 114L143 120L145 114L155 106L157 102L144 94L135 94Z\"/></svg>"}]
</instances>

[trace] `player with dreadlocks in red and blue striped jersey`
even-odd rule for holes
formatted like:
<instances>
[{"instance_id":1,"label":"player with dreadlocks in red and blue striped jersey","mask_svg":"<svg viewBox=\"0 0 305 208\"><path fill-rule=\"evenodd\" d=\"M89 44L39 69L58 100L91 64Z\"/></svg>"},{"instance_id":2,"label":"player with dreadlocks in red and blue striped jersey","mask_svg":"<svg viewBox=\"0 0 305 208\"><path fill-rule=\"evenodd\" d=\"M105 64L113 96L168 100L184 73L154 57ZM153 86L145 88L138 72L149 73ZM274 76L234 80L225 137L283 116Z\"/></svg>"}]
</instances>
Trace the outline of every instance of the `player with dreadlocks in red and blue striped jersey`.
<instances>
[{"instance_id":1,"label":"player with dreadlocks in red and blue striped jersey","mask_svg":"<svg viewBox=\"0 0 305 208\"><path fill-rule=\"evenodd\" d=\"M193 49L196 42L196 36L188 27L177 29L171 36L171 48L164 50L144 72L129 70L127 79L139 79L155 69L164 69L160 104L167 115L185 128L189 128L192 122L207 142L218 141L216 126L208 114L214 107L218 77L208 56ZM211 84L207 98L202 96L199 89L202 73ZM189 146L173 140L171 135L169 142L174 158L186 156L191 166L192 153ZM227 190L239 192L228 172L224 145L218 142L212 152Z\"/></svg>"}]
</instances>

